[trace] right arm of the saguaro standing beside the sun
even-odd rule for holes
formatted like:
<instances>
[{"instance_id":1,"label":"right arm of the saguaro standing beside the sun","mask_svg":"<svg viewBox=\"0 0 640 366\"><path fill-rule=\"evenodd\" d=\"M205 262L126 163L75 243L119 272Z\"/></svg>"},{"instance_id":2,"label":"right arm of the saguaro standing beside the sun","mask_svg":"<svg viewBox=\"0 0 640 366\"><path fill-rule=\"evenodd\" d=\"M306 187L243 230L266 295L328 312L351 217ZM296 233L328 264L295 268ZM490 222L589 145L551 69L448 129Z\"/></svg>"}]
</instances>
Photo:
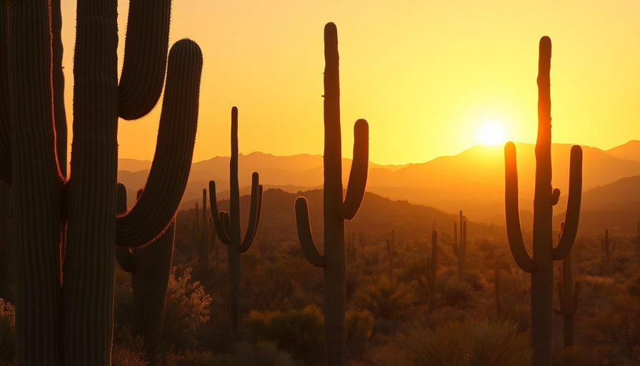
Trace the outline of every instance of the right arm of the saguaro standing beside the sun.
<instances>
[{"instance_id":1,"label":"right arm of the saguaro standing beside the sun","mask_svg":"<svg viewBox=\"0 0 640 366\"><path fill-rule=\"evenodd\" d=\"M578 145L571 147L571 162L569 165L569 199L564 216L564 229L558 246L554 248L554 260L566 257L574 245L578 232L580 216L580 202L582 194L582 148Z\"/></svg>"}]
</instances>

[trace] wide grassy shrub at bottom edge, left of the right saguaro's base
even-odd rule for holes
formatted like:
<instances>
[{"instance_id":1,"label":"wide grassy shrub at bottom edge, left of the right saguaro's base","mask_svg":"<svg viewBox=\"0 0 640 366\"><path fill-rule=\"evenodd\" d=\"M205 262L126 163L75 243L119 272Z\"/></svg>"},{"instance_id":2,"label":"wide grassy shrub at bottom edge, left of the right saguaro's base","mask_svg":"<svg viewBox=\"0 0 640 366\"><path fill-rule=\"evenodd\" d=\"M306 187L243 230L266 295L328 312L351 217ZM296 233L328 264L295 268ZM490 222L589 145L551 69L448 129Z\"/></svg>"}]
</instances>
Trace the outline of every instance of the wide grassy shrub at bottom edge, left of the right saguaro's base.
<instances>
[{"instance_id":1,"label":"wide grassy shrub at bottom edge, left of the right saguaro's base","mask_svg":"<svg viewBox=\"0 0 640 366\"><path fill-rule=\"evenodd\" d=\"M447 322L436 330L408 327L398 340L407 365L526 365L531 363L529 335L511 322Z\"/></svg>"}]
</instances>

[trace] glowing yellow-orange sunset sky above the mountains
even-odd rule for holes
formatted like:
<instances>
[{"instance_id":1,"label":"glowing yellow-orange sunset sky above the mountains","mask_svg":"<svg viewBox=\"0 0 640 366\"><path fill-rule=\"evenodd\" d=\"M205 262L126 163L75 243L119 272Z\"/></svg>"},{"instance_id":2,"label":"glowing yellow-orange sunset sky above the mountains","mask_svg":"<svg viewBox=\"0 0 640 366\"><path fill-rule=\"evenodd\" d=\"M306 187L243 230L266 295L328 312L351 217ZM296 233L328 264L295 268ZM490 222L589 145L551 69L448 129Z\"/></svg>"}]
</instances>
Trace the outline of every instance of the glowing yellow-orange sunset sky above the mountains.
<instances>
[{"instance_id":1,"label":"glowing yellow-orange sunset sky above the mountains","mask_svg":"<svg viewBox=\"0 0 640 366\"><path fill-rule=\"evenodd\" d=\"M69 122L74 3L63 1ZM127 9L120 1L120 57ZM541 36L553 44L553 142L610 149L640 139L639 16L638 0L187 0L172 6L170 44L190 38L204 54L194 162L229 156L233 106L242 154L322 154L332 21L343 156L364 118L371 162L407 164L481 143L486 124L534 143ZM153 158L160 109L121 120L119 157Z\"/></svg>"}]
</instances>

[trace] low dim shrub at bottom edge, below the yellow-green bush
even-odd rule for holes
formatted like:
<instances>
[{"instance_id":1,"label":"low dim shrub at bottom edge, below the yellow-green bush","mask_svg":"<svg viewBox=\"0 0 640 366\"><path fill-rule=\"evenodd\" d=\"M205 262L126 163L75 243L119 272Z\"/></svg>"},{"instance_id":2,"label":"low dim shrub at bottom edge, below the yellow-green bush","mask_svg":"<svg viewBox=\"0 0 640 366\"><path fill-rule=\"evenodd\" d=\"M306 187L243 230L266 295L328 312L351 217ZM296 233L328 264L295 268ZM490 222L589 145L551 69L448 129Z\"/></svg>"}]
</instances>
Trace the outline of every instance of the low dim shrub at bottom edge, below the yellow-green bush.
<instances>
[{"instance_id":1,"label":"low dim shrub at bottom edge, below the yellow-green bush","mask_svg":"<svg viewBox=\"0 0 640 366\"><path fill-rule=\"evenodd\" d=\"M231 353L214 357L210 366L304 366L304 362L293 360L289 353L279 350L274 342L236 343Z\"/></svg>"}]
</instances>

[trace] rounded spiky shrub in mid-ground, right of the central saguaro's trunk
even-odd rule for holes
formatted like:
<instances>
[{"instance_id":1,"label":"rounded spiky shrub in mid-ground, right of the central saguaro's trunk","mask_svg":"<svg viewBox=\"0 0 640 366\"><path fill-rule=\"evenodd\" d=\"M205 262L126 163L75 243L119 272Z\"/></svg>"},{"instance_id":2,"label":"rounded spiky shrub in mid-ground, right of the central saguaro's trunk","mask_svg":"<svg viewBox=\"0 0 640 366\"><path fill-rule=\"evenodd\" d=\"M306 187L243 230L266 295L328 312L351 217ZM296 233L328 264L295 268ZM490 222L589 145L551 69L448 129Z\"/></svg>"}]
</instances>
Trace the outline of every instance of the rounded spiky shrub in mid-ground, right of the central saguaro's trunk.
<instances>
[{"instance_id":1,"label":"rounded spiky shrub in mid-ground, right of the central saguaro's trunk","mask_svg":"<svg viewBox=\"0 0 640 366\"><path fill-rule=\"evenodd\" d=\"M376 319L406 319L416 312L414 290L387 277L356 290L354 302L358 307L369 310Z\"/></svg>"}]
</instances>

